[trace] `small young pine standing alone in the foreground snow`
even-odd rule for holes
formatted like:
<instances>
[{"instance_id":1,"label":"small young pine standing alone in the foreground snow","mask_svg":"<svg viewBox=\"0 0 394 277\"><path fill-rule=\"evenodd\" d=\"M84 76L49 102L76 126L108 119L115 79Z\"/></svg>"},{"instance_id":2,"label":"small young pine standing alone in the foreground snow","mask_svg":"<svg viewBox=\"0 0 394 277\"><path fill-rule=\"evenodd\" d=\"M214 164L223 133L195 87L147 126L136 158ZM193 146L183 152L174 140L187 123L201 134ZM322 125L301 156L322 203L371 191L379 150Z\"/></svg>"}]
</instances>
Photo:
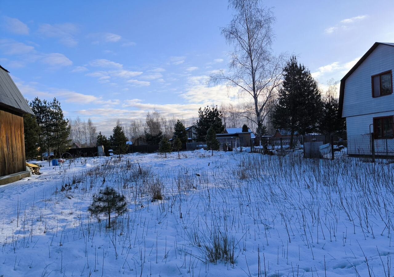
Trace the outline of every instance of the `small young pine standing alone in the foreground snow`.
<instances>
[{"instance_id":1,"label":"small young pine standing alone in the foreground snow","mask_svg":"<svg viewBox=\"0 0 394 277\"><path fill-rule=\"evenodd\" d=\"M111 228L111 214L121 216L127 211L127 201L114 188L106 187L99 193L93 194L92 204L88 208L92 216L106 214L108 217L108 228Z\"/></svg>"}]
</instances>

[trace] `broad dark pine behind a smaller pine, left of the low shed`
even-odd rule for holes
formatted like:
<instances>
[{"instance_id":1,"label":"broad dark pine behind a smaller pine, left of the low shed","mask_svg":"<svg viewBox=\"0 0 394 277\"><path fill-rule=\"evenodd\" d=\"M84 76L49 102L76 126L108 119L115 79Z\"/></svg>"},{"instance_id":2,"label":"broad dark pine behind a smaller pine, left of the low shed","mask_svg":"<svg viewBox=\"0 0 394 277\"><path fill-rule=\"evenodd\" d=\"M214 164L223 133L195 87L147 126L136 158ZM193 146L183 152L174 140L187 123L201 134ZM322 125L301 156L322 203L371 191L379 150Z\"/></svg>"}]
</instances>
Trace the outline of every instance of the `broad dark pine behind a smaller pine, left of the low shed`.
<instances>
[{"instance_id":1,"label":"broad dark pine behind a smaller pine, left of the low shed","mask_svg":"<svg viewBox=\"0 0 394 277\"><path fill-rule=\"evenodd\" d=\"M224 132L223 115L221 111L217 110L217 107L206 106L204 110L199 108L198 117L199 119L195 125L197 141L205 141L208 129L211 127L216 134L222 134Z\"/></svg>"}]
</instances>

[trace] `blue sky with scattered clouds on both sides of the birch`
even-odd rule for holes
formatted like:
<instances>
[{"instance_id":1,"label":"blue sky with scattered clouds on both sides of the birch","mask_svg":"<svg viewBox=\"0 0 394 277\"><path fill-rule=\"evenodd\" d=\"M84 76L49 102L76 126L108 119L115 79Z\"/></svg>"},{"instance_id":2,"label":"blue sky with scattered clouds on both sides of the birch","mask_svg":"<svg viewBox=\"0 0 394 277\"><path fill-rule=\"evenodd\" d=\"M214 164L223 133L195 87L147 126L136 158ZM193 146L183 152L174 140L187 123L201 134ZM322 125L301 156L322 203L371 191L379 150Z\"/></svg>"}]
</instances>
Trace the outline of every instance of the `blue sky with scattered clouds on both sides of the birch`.
<instances>
[{"instance_id":1,"label":"blue sky with scattered clouds on both sides of the birch","mask_svg":"<svg viewBox=\"0 0 394 277\"><path fill-rule=\"evenodd\" d=\"M275 7L276 52L315 78L340 80L375 41L394 42L392 1L264 1ZM188 119L236 101L207 76L227 69L226 0L0 0L0 64L27 99L57 97L71 119L109 133L153 109Z\"/></svg>"}]
</instances>

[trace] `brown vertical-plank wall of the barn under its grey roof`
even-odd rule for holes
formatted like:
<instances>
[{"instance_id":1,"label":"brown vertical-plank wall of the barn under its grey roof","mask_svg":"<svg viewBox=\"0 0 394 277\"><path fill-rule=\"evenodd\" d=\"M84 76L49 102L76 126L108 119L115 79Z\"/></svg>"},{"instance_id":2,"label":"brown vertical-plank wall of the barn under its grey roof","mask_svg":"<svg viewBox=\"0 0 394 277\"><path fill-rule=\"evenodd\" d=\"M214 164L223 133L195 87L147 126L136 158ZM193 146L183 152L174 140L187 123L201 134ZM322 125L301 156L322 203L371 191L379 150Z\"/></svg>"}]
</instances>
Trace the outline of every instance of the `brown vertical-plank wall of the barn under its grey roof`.
<instances>
[{"instance_id":1,"label":"brown vertical-plank wall of the barn under its grey roof","mask_svg":"<svg viewBox=\"0 0 394 277\"><path fill-rule=\"evenodd\" d=\"M0 108L0 177L26 171L22 115Z\"/></svg>"}]
</instances>

